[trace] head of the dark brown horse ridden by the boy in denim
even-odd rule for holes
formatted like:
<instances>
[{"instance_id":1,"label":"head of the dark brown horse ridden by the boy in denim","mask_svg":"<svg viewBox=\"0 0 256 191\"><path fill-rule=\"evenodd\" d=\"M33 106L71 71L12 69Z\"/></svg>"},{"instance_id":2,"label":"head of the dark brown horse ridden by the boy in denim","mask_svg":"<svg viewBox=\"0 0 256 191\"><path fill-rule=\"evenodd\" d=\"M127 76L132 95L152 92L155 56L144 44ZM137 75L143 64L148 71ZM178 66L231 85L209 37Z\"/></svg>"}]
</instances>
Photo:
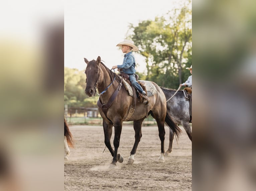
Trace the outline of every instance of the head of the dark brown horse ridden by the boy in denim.
<instances>
[{"instance_id":1,"label":"head of the dark brown horse ridden by the boy in denim","mask_svg":"<svg viewBox=\"0 0 256 191\"><path fill-rule=\"evenodd\" d=\"M84 59L87 64L87 67L85 69L85 74L86 74L85 93L89 97L92 97L96 93L96 88L98 87L98 83L100 80L101 57L98 56L97 60L92 60L90 62L86 58Z\"/></svg>"}]
</instances>

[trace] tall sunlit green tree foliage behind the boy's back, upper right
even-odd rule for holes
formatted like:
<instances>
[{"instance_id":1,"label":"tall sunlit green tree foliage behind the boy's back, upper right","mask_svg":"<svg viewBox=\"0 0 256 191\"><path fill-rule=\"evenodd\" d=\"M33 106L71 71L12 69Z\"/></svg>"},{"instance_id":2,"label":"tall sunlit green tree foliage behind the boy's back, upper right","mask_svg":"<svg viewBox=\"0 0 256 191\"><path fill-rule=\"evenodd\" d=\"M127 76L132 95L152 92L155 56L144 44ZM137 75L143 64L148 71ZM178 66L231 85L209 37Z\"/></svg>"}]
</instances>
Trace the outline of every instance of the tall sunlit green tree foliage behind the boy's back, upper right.
<instances>
[{"instance_id":1,"label":"tall sunlit green tree foliage behind the boy's back, upper right","mask_svg":"<svg viewBox=\"0 0 256 191\"><path fill-rule=\"evenodd\" d=\"M191 26L191 8L188 5L175 8L154 21L141 21L137 26L130 24L128 38L137 45L138 53L145 57L146 80L176 88L187 79L190 74L184 68L192 64Z\"/></svg>"}]
</instances>

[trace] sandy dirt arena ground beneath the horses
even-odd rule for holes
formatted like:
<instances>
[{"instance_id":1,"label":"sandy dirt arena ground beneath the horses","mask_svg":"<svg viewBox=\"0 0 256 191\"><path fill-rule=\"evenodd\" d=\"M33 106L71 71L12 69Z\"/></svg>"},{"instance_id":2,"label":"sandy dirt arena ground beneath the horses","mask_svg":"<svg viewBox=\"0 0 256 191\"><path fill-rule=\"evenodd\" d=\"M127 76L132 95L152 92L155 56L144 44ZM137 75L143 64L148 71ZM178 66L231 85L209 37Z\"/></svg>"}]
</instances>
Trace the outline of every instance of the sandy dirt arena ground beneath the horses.
<instances>
[{"instance_id":1,"label":"sandy dirt arena ground beneath the horses","mask_svg":"<svg viewBox=\"0 0 256 191\"><path fill-rule=\"evenodd\" d=\"M124 162L109 169L112 156L105 148L102 126L70 126L75 148L64 162L65 190L192 190L192 143L185 130L172 152L159 163L160 139L157 126L142 127L142 138L133 164L127 164L134 143L132 125L123 125L118 153ZM165 127L165 150L169 144L169 128ZM114 129L113 129L114 133ZM111 137L113 146L113 135Z\"/></svg>"}]
</instances>

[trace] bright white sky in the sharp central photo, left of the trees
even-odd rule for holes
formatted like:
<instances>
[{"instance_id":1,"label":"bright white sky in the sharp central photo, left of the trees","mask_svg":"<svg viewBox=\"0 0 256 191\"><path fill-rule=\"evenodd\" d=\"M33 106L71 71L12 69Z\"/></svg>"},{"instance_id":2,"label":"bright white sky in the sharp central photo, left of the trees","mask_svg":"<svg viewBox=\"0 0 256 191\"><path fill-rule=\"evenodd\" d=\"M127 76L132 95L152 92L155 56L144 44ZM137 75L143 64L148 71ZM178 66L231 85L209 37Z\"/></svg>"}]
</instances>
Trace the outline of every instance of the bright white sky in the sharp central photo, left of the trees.
<instances>
[{"instance_id":1,"label":"bright white sky in the sharp central photo, left of the trees","mask_svg":"<svg viewBox=\"0 0 256 191\"><path fill-rule=\"evenodd\" d=\"M129 23L154 20L173 6L175 0L66 1L65 66L85 70L84 58L90 61L98 56L109 69L122 64L124 54L116 45L125 38ZM136 70L143 72L144 59L134 55Z\"/></svg>"}]
</instances>

